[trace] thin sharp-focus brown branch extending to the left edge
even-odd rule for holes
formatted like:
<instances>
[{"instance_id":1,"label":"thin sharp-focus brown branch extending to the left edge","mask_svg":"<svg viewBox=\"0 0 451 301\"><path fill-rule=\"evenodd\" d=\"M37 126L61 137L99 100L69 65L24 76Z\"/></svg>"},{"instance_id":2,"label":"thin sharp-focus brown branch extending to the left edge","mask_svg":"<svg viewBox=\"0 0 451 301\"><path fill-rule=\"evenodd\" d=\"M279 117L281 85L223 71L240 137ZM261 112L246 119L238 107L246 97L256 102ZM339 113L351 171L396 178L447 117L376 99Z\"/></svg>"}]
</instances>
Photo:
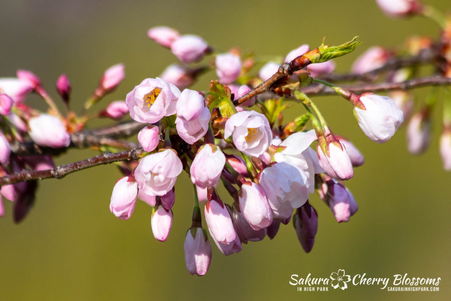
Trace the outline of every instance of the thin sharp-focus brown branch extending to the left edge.
<instances>
[{"instance_id":1,"label":"thin sharp-focus brown branch extending to the left edge","mask_svg":"<svg viewBox=\"0 0 451 301\"><path fill-rule=\"evenodd\" d=\"M121 153L103 153L99 156L92 157L86 160L62 165L55 167L53 169L47 169L43 171L29 171L23 170L18 173L14 173L9 176L4 176L0 178L0 185L15 184L18 182L31 181L31 180L42 180L49 178L62 179L64 176L74 172L80 171L89 167L98 166L101 164L108 164L119 161L126 160L138 160L143 157L145 153L143 148L132 149L127 152Z\"/></svg>"}]
</instances>

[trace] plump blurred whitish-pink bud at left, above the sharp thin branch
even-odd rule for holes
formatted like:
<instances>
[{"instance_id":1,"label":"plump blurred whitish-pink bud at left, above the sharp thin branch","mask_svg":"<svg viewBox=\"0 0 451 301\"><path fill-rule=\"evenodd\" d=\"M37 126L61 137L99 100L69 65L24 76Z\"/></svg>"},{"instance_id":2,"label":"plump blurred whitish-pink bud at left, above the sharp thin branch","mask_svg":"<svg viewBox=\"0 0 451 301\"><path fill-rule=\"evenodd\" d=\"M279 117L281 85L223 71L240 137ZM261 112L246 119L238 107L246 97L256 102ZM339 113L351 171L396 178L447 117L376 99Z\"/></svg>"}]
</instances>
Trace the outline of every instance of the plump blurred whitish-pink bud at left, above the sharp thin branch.
<instances>
[{"instance_id":1,"label":"plump blurred whitish-pink bud at left, above the sharp thin branch","mask_svg":"<svg viewBox=\"0 0 451 301\"><path fill-rule=\"evenodd\" d=\"M51 148L68 147L70 135L60 118L41 114L28 120L30 135L33 141L41 146Z\"/></svg>"}]
</instances>

